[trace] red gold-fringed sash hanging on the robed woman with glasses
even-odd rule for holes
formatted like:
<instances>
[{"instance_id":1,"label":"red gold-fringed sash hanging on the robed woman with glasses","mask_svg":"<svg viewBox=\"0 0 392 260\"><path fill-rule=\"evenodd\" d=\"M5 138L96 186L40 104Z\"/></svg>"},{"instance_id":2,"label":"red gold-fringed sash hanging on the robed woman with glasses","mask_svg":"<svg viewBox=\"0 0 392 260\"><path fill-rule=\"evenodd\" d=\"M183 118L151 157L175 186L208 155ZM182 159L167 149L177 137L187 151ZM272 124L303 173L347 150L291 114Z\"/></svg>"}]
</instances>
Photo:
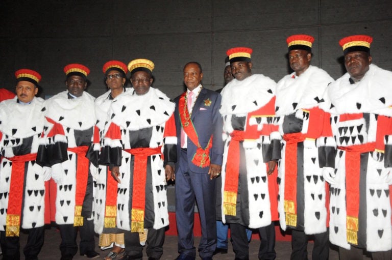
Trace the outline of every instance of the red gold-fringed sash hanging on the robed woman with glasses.
<instances>
[{"instance_id":1,"label":"red gold-fringed sash hanging on the robed woman with glasses","mask_svg":"<svg viewBox=\"0 0 392 260\"><path fill-rule=\"evenodd\" d=\"M106 203L105 203L105 227L116 227L117 216L117 182L111 176L111 170L107 167L106 177Z\"/></svg>"}]
</instances>

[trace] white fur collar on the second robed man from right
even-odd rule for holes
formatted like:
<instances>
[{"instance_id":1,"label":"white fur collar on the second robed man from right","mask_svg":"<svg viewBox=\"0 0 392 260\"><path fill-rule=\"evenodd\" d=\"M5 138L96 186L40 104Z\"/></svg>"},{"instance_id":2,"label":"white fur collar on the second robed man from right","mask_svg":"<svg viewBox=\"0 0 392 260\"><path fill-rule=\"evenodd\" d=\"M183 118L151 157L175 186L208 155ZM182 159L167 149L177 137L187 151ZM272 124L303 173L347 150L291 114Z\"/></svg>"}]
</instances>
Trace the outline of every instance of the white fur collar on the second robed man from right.
<instances>
[{"instance_id":1,"label":"white fur collar on the second robed man from right","mask_svg":"<svg viewBox=\"0 0 392 260\"><path fill-rule=\"evenodd\" d=\"M323 94L333 78L320 68L309 66L299 77L295 72L284 76L276 89L276 114L287 115L301 108L312 108L323 102Z\"/></svg>"}]
</instances>

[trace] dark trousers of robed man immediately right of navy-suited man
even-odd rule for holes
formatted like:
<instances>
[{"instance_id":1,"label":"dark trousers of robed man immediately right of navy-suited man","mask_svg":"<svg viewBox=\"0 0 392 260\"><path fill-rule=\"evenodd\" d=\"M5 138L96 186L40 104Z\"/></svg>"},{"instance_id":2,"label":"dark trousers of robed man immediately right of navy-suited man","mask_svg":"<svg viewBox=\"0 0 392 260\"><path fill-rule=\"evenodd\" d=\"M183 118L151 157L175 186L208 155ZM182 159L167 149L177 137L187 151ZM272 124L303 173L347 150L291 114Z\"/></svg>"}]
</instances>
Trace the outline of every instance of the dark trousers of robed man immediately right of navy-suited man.
<instances>
[{"instance_id":1,"label":"dark trousers of robed man immediately right of navy-suited man","mask_svg":"<svg viewBox=\"0 0 392 260\"><path fill-rule=\"evenodd\" d=\"M230 223L231 239L236 260L249 260L249 243L246 227L241 224ZM275 224L257 228L260 235L259 259L273 260L275 252Z\"/></svg>"}]
</instances>

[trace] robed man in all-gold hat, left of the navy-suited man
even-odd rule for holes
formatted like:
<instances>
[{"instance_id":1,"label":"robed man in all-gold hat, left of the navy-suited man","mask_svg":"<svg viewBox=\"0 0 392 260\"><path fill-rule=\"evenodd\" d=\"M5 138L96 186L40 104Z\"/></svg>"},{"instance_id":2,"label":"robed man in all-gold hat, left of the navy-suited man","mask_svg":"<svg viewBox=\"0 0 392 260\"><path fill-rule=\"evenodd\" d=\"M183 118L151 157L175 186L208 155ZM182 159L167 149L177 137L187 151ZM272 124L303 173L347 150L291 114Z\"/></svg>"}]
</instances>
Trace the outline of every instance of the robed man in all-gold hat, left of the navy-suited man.
<instances>
[{"instance_id":1,"label":"robed man in all-gold hat, left of the navy-suited man","mask_svg":"<svg viewBox=\"0 0 392 260\"><path fill-rule=\"evenodd\" d=\"M128 64L132 95L113 102L106 124L100 164L109 165L117 197L112 220L125 230L127 259L148 259L163 253L167 211L167 183L174 180L177 161L174 103L152 88L154 63L146 59ZM106 221L106 220L105 220Z\"/></svg>"}]
</instances>

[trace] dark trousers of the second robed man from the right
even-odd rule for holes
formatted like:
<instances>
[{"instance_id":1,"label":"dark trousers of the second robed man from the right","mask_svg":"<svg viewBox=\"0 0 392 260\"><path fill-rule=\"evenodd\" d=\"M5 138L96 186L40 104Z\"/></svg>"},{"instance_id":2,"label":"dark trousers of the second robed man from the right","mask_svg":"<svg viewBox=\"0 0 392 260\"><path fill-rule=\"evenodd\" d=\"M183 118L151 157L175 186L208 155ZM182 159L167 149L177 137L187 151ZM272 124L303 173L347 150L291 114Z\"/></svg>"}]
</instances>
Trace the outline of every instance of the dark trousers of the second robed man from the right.
<instances>
[{"instance_id":1,"label":"dark trousers of the second robed man from the right","mask_svg":"<svg viewBox=\"0 0 392 260\"><path fill-rule=\"evenodd\" d=\"M309 236L305 232L292 229L291 232L291 260L307 260L307 245ZM329 232L312 235L314 245L312 251L312 259L328 260L329 257Z\"/></svg>"}]
</instances>

